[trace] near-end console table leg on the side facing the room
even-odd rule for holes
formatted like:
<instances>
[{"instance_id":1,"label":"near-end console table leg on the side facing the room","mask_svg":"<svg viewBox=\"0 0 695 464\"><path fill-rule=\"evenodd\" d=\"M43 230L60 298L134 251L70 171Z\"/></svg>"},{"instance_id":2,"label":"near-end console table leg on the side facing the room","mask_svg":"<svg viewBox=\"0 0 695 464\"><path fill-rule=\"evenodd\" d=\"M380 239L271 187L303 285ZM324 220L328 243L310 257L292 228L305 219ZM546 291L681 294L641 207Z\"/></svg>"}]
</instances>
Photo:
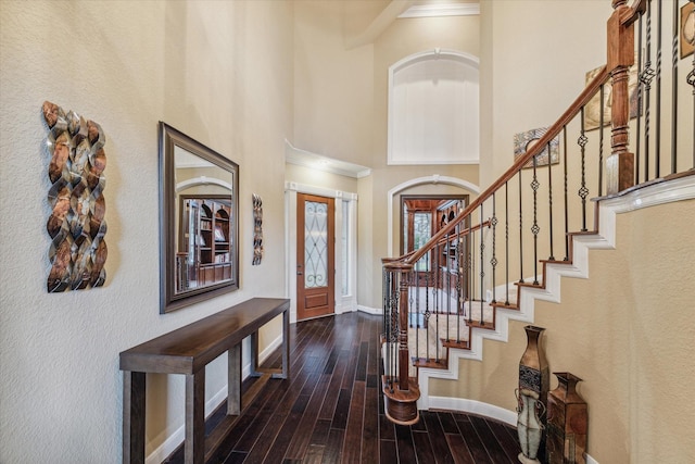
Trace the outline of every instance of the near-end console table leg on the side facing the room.
<instances>
[{"instance_id":1,"label":"near-end console table leg on the side facing the room","mask_svg":"<svg viewBox=\"0 0 695 464\"><path fill-rule=\"evenodd\" d=\"M186 376L186 464L205 462L205 369Z\"/></svg>"}]
</instances>

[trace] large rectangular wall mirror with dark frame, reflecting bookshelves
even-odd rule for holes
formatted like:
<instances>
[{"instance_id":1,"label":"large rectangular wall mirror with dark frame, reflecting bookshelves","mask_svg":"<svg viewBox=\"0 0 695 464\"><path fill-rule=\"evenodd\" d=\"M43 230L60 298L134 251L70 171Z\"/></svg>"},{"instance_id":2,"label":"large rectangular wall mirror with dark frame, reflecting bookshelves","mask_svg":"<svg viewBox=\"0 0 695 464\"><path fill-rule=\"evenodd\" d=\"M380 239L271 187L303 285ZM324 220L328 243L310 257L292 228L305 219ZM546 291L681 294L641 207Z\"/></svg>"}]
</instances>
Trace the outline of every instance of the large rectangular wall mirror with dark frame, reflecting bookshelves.
<instances>
[{"instance_id":1,"label":"large rectangular wall mirror with dark frame, reflecting bookshelves","mask_svg":"<svg viewBox=\"0 0 695 464\"><path fill-rule=\"evenodd\" d=\"M160 122L160 312L239 288L239 165Z\"/></svg>"}]
</instances>

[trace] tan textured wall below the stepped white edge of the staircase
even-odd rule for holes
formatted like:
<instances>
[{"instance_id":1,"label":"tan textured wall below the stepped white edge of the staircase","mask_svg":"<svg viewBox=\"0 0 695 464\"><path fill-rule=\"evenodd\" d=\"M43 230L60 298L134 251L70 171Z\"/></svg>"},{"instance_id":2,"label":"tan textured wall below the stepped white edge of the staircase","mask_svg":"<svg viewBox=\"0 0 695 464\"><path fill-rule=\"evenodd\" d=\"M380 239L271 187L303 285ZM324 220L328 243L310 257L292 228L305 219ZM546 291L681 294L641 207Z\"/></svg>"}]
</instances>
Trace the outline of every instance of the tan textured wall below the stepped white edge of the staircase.
<instances>
[{"instance_id":1,"label":"tan textured wall below the stepped white edge of the staircase","mask_svg":"<svg viewBox=\"0 0 695 464\"><path fill-rule=\"evenodd\" d=\"M535 303L551 371L583 379L601 463L695 460L694 220L694 200L618 215L617 248L590 251L589 279L564 277L559 304ZM514 410L523 325L510 324L508 343L485 340L482 363L460 361L460 380L433 380L430 394Z\"/></svg>"}]
</instances>

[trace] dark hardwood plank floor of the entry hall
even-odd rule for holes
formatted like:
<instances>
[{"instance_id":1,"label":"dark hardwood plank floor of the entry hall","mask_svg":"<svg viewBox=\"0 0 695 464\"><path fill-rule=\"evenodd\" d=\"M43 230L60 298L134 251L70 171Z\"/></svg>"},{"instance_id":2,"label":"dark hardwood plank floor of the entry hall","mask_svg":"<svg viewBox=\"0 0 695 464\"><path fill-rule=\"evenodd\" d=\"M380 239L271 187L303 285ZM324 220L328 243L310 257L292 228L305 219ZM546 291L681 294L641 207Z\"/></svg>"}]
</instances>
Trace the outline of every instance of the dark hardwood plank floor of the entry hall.
<instances>
[{"instance_id":1,"label":"dark hardwood plank floor of the entry hall","mask_svg":"<svg viewBox=\"0 0 695 464\"><path fill-rule=\"evenodd\" d=\"M456 412L413 426L383 415L381 317L348 313L291 325L291 378L248 378L243 411L206 421L207 463L517 463L516 429ZM262 367L280 366L279 352ZM213 430L214 429L214 430ZM166 463L184 463L180 447Z\"/></svg>"}]
</instances>

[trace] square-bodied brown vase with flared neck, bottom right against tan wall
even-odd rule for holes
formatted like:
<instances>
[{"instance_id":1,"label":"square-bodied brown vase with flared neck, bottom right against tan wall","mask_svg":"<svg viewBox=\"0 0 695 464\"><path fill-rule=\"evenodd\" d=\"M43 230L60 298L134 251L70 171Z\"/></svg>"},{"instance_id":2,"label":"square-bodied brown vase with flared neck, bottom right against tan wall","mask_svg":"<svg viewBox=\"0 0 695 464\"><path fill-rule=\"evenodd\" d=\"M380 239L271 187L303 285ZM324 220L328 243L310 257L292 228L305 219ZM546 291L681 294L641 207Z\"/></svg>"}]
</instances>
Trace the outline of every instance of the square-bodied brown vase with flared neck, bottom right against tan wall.
<instances>
[{"instance_id":1,"label":"square-bodied brown vase with flared neck, bottom right against tan wall","mask_svg":"<svg viewBox=\"0 0 695 464\"><path fill-rule=\"evenodd\" d=\"M558 386L547 396L548 464L585 464L589 414L577 392L582 379L568 373L553 373Z\"/></svg>"}]
</instances>

